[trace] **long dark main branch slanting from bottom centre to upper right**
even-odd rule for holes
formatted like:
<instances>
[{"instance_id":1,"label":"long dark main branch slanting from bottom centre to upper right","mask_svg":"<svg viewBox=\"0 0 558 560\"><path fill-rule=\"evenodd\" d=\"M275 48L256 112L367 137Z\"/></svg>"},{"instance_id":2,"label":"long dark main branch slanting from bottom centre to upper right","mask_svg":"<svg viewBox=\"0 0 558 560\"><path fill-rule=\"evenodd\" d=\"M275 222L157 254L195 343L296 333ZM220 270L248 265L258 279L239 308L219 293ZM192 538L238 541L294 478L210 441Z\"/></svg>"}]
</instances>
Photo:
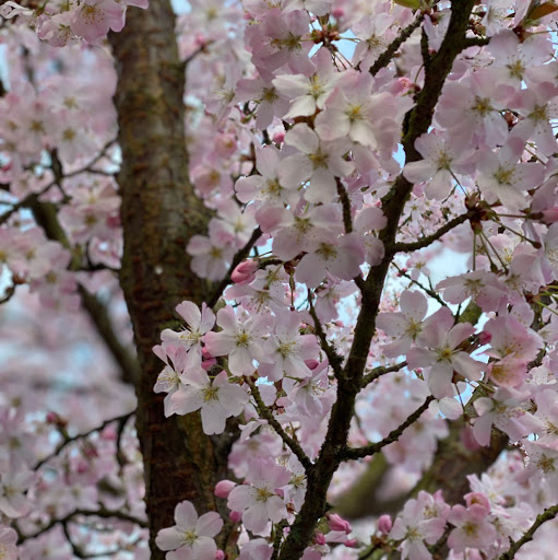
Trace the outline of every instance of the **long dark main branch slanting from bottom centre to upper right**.
<instances>
[{"instance_id":1,"label":"long dark main branch slanting from bottom centre to upper right","mask_svg":"<svg viewBox=\"0 0 558 560\"><path fill-rule=\"evenodd\" d=\"M448 32L438 52L431 56L425 67L425 83L417 95L416 105L407 114L403 130L405 162L418 161L420 153L415 140L431 125L432 115L441 94L446 78L453 61L462 50L470 14L475 0L454 0ZM400 175L390 191L382 198L382 211L388 224L380 232L380 241L387 248L385 256L378 266L370 269L361 289L361 308L358 314L353 345L344 368L344 376L337 383L337 398L333 405L324 443L314 468L308 476L305 502L298 512L290 532L281 549L280 560L300 558L310 542L320 517L327 505L327 491L340 465L339 450L346 446L351 422L354 417L356 396L363 383L363 373L368 361L370 342L376 332L376 316L379 311L385 277L393 258L388 247L395 242L401 214L413 185Z\"/></svg>"}]
</instances>

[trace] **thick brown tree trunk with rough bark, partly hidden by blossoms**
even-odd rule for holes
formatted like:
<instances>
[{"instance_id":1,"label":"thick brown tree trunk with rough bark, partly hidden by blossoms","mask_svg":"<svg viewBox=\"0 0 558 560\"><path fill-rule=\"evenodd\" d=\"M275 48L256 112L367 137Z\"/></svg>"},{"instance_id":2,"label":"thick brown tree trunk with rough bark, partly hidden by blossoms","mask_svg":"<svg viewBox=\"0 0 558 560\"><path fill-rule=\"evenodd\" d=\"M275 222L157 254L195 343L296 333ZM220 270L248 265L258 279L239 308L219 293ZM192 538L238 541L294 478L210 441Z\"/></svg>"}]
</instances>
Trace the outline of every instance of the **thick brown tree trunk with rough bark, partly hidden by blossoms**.
<instances>
[{"instance_id":1,"label":"thick brown tree trunk with rough bark, partly hidden by blossoms","mask_svg":"<svg viewBox=\"0 0 558 560\"><path fill-rule=\"evenodd\" d=\"M163 396L153 393L162 362L152 351L165 327L178 323L182 300L201 303L207 285L190 270L188 240L205 231L209 214L188 177L185 140L183 65L168 0L149 10L129 10L127 24L110 37L118 72L118 112L122 165L123 258L120 283L133 325L141 368L136 384L136 428L145 467L145 503L152 559L157 532L174 525L174 509L192 501L200 514L223 508L213 487L226 478L231 438L207 438L198 415L166 419ZM226 517L225 517L226 518ZM234 546L234 532L228 532ZM226 547L224 541L218 542Z\"/></svg>"}]
</instances>

